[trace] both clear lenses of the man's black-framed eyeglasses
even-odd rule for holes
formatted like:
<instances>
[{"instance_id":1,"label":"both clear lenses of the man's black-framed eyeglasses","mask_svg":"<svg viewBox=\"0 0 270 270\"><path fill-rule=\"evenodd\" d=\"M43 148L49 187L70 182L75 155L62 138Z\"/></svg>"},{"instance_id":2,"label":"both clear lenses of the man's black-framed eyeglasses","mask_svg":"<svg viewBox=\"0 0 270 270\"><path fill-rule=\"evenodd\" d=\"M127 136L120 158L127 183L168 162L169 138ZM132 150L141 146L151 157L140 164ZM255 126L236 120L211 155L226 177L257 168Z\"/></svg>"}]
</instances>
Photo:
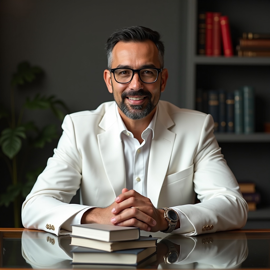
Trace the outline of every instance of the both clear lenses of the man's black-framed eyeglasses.
<instances>
[{"instance_id":1,"label":"both clear lenses of the man's black-framed eyeglasses","mask_svg":"<svg viewBox=\"0 0 270 270\"><path fill-rule=\"evenodd\" d=\"M158 72L156 69L146 68L140 70L140 78L145 83L152 83L157 79ZM115 80L119 83L127 83L131 80L132 70L117 69L114 71Z\"/></svg>"}]
</instances>

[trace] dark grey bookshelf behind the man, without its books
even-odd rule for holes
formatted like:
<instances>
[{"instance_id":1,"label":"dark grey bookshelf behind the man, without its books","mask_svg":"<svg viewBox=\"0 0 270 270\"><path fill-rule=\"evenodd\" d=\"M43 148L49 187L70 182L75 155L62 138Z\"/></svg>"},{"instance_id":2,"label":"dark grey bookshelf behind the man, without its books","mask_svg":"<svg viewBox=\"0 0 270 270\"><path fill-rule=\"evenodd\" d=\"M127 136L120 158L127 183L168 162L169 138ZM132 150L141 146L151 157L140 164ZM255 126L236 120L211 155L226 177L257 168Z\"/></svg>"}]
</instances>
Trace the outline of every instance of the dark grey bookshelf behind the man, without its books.
<instances>
[{"instance_id":1,"label":"dark grey bookshelf behind the man, without its books","mask_svg":"<svg viewBox=\"0 0 270 270\"><path fill-rule=\"evenodd\" d=\"M216 133L228 165L237 180L254 181L262 202L250 211L246 228L270 226L270 57L224 57L197 54L197 21L201 11L228 15L233 48L242 32L270 32L270 1L187 0L185 2L186 40L183 48L186 70L183 82L185 107L195 109L196 89L224 89L233 92L240 86L255 87L255 130L253 134Z\"/></svg>"}]
</instances>

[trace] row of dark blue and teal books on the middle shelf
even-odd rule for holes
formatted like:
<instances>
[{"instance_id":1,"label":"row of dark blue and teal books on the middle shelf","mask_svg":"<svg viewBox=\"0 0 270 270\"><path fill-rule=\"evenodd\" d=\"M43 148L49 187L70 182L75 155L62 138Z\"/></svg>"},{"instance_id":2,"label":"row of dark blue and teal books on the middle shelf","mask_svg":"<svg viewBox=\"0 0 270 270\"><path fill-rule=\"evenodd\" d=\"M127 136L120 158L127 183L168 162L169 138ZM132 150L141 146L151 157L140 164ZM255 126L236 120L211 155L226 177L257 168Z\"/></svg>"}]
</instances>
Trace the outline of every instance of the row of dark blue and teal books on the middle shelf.
<instances>
[{"instance_id":1,"label":"row of dark blue and teal books on the middle shelf","mask_svg":"<svg viewBox=\"0 0 270 270\"><path fill-rule=\"evenodd\" d=\"M215 132L250 134L255 131L255 92L242 86L233 92L197 89L196 110L209 113Z\"/></svg>"}]
</instances>

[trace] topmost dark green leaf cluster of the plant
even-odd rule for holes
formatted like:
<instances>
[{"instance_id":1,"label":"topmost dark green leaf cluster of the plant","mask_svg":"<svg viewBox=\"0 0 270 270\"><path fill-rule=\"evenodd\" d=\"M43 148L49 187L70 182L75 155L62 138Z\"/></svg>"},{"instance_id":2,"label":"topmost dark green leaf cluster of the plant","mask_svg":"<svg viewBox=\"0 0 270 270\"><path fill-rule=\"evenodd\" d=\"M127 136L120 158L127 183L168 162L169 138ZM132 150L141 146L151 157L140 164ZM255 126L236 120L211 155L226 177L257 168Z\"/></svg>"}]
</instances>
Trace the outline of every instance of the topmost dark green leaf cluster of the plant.
<instances>
[{"instance_id":1,"label":"topmost dark green leaf cluster of the plant","mask_svg":"<svg viewBox=\"0 0 270 270\"><path fill-rule=\"evenodd\" d=\"M21 62L17 66L17 72L12 76L11 85L16 86L32 82L42 72L43 70L38 66L31 66L27 61Z\"/></svg>"}]
</instances>

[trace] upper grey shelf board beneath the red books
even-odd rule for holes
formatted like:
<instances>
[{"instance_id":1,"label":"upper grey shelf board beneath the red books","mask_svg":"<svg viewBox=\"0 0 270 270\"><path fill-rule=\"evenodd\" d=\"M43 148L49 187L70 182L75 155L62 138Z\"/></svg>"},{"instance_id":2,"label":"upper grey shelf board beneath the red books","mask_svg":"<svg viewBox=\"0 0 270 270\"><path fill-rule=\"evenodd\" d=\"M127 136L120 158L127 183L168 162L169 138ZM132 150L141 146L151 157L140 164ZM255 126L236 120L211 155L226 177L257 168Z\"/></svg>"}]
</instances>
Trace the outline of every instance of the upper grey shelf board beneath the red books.
<instances>
[{"instance_id":1,"label":"upper grey shelf board beneath the red books","mask_svg":"<svg viewBox=\"0 0 270 270\"><path fill-rule=\"evenodd\" d=\"M270 65L270 57L224 57L224 56L195 56L197 65Z\"/></svg>"}]
</instances>

